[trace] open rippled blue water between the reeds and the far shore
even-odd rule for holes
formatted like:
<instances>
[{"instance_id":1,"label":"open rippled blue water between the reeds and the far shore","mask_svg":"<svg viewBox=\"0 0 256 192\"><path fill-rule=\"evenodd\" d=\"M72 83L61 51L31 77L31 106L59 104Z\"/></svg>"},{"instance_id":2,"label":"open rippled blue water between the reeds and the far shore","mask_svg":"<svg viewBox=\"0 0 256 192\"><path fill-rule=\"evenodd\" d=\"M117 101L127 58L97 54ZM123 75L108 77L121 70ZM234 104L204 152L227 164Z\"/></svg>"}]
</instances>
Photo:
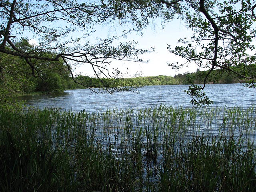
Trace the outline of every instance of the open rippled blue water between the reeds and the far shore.
<instances>
[{"instance_id":1,"label":"open rippled blue water between the reeds and the far shore","mask_svg":"<svg viewBox=\"0 0 256 192\"><path fill-rule=\"evenodd\" d=\"M149 108L164 104L173 107L191 107L191 98L184 92L188 85L144 86L139 93L116 92L92 94L89 89L66 90L62 94L19 97L27 106L39 108L54 107L74 111L110 108ZM239 106L247 108L256 104L256 90L244 88L241 84L207 84L204 90L213 100L213 107Z\"/></svg>"}]
</instances>

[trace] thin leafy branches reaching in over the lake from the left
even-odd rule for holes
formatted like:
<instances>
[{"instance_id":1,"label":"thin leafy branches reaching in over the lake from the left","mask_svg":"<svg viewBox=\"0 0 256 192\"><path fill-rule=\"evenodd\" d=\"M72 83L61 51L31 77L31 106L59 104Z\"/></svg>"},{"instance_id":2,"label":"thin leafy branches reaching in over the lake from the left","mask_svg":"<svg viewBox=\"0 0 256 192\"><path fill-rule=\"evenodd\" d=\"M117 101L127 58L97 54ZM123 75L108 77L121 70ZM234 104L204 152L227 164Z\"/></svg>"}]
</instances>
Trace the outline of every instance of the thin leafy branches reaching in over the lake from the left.
<instances>
[{"instance_id":1,"label":"thin leafy branches reaching in over the lake from the left","mask_svg":"<svg viewBox=\"0 0 256 192\"><path fill-rule=\"evenodd\" d=\"M110 22L122 22L128 17L136 23L138 28L142 27L133 12L125 13L112 3L2 0L0 13L0 52L22 63L22 66L16 66L14 77L26 68L26 73L44 81L44 73L50 65L64 62L66 70L75 82L76 75L71 66L78 64L91 66L92 72L98 79L114 78L118 77L120 72L118 70L113 74L110 72L108 66L112 60L142 61L138 56L148 52L148 50L137 49L137 42L119 40L126 38L132 29L124 30L118 36L96 38L96 43L88 41L94 34L95 27ZM31 38L30 41L24 41L26 36ZM11 67L12 65L0 65L1 71L2 69L7 71ZM58 69L52 71L52 73L56 72L59 74ZM56 78L56 74L47 77ZM2 75L3 81L5 81L4 78L8 77ZM101 83L107 92L122 90L120 87L108 88L109 85L104 84L103 81ZM83 86L90 88L87 84ZM62 87L59 85L57 91L63 88L63 85ZM45 87L43 90L52 92Z\"/></svg>"}]
</instances>

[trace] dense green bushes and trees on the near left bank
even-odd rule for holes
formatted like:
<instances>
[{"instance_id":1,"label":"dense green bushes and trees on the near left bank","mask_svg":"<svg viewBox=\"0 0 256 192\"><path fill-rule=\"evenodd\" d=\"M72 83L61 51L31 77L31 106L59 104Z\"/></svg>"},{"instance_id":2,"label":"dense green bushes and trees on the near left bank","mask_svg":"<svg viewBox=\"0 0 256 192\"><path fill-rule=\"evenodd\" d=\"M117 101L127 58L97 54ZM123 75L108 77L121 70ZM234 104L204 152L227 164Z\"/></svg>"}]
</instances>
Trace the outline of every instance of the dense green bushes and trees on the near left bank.
<instances>
[{"instance_id":1,"label":"dense green bushes and trees on the near left bank","mask_svg":"<svg viewBox=\"0 0 256 192\"><path fill-rule=\"evenodd\" d=\"M16 43L16 47L26 51L32 51L33 46L29 40L22 38ZM12 50L12 48L10 48ZM38 53L39 54L39 53ZM41 52L44 56L52 56L54 52ZM41 78L34 78L30 73L30 68L22 58L1 53L1 87L2 98L26 94L35 91L44 93L62 92L68 88L68 82L71 81L69 71L65 67L63 60L47 62L42 60L33 60L31 62L38 69L38 75Z\"/></svg>"}]
</instances>

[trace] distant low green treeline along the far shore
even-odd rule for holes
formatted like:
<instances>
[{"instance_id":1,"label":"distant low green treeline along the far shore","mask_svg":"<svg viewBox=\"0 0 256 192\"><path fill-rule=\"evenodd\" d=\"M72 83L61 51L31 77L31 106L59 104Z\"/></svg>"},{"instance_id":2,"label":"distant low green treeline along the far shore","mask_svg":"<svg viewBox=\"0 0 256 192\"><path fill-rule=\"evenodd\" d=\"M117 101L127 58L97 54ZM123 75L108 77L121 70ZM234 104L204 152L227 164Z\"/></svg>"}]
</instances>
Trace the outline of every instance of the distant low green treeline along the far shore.
<instances>
[{"instance_id":1,"label":"distant low green treeline along the far shore","mask_svg":"<svg viewBox=\"0 0 256 192\"><path fill-rule=\"evenodd\" d=\"M148 76L148 77L133 77L133 78L119 78L119 79L102 79L106 85L119 85L119 86L147 86L147 85L175 85L175 84L203 84L204 77L208 71L200 71L184 74L177 74L175 76ZM224 70L214 70L208 77L208 84L218 83L237 83L241 77L231 76ZM90 87L101 87L102 82L98 78L92 78L89 76L78 76L76 78L78 82L86 84ZM76 88L82 88L79 84L73 85Z\"/></svg>"}]
</instances>

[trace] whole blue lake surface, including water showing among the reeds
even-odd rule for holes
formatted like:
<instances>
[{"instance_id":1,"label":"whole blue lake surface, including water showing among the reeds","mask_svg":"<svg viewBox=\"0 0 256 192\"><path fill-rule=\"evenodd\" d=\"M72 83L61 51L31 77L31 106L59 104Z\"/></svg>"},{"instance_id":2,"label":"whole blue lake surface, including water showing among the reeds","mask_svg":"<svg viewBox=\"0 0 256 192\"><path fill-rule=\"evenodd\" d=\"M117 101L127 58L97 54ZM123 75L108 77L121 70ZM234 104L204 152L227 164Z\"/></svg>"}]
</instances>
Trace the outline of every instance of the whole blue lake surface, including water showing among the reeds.
<instances>
[{"instance_id":1,"label":"whole blue lake surface, including water showing among the reeds","mask_svg":"<svg viewBox=\"0 0 256 192\"><path fill-rule=\"evenodd\" d=\"M95 171L97 175L110 172L109 180L112 180L115 173L120 176L120 171L126 175L126 168L132 170L132 175L136 174L135 182L141 182L142 188L158 185L167 176L172 176L167 178L170 182L178 178L179 184L183 178L188 178L188 183L199 178L195 183L200 185L202 173L216 182L220 178L225 180L224 170L232 184L234 180L248 178L252 170L254 174L256 107L251 105L256 104L256 91L240 84L210 84L206 92L214 101L214 107L191 108L190 97L184 93L186 88L186 85L145 86L138 89L139 94L117 92L113 95L96 95L83 89L20 97L30 106L72 108L73 111L31 110L18 116L14 113L11 118L4 116L0 122L7 130L16 128L15 135L26 136L21 141L43 143L42 146L59 153L58 164L67 163L74 168L74 173L71 168L68 173L74 178L82 173L79 182ZM148 109L152 106L157 107ZM34 137L28 140L30 135ZM113 165L117 166L114 172ZM240 173L244 174L240 176ZM216 189L222 188L224 182L219 183L221 186Z\"/></svg>"}]
</instances>

